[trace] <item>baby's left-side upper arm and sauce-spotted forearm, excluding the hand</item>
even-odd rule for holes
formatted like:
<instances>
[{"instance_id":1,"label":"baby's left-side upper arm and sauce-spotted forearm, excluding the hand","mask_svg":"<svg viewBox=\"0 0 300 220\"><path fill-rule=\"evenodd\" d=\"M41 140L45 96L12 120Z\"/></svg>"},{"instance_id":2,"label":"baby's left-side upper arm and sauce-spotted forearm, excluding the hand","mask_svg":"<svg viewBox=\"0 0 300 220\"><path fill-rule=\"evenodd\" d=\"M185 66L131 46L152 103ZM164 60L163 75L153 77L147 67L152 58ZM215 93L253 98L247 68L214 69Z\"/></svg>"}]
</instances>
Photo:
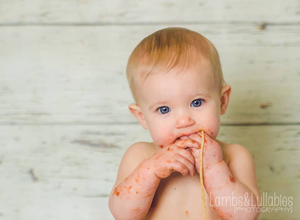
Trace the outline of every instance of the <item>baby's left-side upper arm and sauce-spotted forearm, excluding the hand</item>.
<instances>
[{"instance_id":1,"label":"baby's left-side upper arm and sauce-spotted forearm, excluding the hand","mask_svg":"<svg viewBox=\"0 0 300 220\"><path fill-rule=\"evenodd\" d=\"M116 220L143 219L151 205L160 179L145 167L145 152L145 144L138 142L123 155L109 196L109 209Z\"/></svg>"}]
</instances>

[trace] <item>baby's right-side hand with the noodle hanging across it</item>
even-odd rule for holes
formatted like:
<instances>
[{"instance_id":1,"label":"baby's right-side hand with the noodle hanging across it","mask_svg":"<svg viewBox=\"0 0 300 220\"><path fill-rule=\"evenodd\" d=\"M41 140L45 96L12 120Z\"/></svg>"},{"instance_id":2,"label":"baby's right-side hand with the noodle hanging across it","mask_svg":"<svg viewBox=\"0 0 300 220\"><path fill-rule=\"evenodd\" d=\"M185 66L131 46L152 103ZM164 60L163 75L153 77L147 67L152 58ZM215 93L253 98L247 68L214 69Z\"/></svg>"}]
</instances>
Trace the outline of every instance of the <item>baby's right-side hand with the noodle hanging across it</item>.
<instances>
[{"instance_id":1,"label":"baby's right-side hand with the noodle hanging across it","mask_svg":"<svg viewBox=\"0 0 300 220\"><path fill-rule=\"evenodd\" d=\"M180 140L195 140L199 143L200 148L188 148L195 158L195 168L197 173L200 171L200 153L201 153L201 132L192 134L190 136L183 136ZM223 153L220 145L204 133L204 149L203 149L203 173L212 168L212 166L223 160Z\"/></svg>"}]
</instances>

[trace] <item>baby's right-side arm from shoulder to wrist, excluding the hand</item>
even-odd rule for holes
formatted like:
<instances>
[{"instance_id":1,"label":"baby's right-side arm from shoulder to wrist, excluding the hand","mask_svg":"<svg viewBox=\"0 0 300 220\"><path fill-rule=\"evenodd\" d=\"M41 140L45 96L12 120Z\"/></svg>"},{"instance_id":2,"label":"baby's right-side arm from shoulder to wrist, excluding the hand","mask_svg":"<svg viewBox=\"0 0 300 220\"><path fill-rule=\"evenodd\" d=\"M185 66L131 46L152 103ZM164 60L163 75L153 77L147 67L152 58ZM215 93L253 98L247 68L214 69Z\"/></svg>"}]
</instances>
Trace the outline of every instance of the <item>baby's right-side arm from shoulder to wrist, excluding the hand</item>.
<instances>
[{"instance_id":1,"label":"baby's right-side arm from shoulder to wrist, excluding the hand","mask_svg":"<svg viewBox=\"0 0 300 220\"><path fill-rule=\"evenodd\" d=\"M223 220L258 218L260 195L252 156L246 148L234 145L228 166L221 160L209 170L203 167L203 175L208 196Z\"/></svg>"}]
</instances>

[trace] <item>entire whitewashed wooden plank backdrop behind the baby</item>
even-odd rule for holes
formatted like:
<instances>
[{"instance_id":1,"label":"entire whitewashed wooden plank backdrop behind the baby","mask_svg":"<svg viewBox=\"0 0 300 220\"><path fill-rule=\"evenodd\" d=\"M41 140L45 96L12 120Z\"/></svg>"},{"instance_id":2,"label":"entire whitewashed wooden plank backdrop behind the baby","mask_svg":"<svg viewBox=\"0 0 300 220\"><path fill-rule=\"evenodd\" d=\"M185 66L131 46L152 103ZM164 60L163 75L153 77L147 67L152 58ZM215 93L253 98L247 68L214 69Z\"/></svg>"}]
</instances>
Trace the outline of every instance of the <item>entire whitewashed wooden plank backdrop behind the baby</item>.
<instances>
[{"instance_id":1,"label":"entire whitewashed wooden plank backdrop behind the baby","mask_svg":"<svg viewBox=\"0 0 300 220\"><path fill-rule=\"evenodd\" d=\"M232 86L218 139L252 153L261 194L300 219L300 1L0 2L0 219L113 219L125 150L151 142L128 111L129 54L170 26L217 47Z\"/></svg>"}]
</instances>

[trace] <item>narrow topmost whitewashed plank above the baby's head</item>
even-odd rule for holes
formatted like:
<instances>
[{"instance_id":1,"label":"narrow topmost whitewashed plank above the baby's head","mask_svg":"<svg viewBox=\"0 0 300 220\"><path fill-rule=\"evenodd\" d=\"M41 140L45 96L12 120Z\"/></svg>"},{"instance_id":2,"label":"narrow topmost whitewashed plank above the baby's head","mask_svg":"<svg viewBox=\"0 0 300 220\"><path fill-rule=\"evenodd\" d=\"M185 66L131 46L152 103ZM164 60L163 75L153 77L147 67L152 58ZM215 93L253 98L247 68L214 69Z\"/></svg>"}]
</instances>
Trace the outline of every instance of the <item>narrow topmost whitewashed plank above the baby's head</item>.
<instances>
[{"instance_id":1,"label":"narrow topmost whitewashed plank above the baby's head","mask_svg":"<svg viewBox=\"0 0 300 220\"><path fill-rule=\"evenodd\" d=\"M300 22L297 0L2 0L2 24Z\"/></svg>"}]
</instances>

